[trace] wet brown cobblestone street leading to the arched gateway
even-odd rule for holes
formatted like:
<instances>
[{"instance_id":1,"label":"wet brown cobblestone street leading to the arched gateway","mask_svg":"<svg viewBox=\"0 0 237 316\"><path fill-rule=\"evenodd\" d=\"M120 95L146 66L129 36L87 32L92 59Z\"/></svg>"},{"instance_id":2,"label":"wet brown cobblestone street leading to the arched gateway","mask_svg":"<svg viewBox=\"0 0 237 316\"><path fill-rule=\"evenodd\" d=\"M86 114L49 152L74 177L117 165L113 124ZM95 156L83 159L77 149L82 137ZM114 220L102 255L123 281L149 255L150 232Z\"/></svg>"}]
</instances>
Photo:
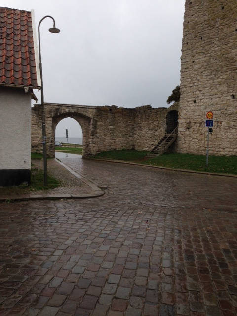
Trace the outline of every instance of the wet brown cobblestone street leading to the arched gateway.
<instances>
[{"instance_id":1,"label":"wet brown cobblestone street leading to the arched gateway","mask_svg":"<svg viewBox=\"0 0 237 316\"><path fill-rule=\"evenodd\" d=\"M237 315L237 179L73 157L104 196L0 204L1 316Z\"/></svg>"}]
</instances>

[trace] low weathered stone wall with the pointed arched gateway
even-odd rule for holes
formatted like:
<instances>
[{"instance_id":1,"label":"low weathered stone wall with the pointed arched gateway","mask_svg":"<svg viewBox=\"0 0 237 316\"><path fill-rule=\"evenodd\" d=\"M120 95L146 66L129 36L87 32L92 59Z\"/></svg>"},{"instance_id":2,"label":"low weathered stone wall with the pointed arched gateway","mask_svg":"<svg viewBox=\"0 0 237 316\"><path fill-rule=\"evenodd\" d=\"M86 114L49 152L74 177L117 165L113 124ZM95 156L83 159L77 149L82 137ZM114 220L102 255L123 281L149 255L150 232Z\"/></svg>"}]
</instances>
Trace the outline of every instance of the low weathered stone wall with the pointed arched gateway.
<instances>
[{"instance_id":1,"label":"low weathered stone wall with the pointed arched gateway","mask_svg":"<svg viewBox=\"0 0 237 316\"><path fill-rule=\"evenodd\" d=\"M55 128L60 120L71 117L83 133L83 157L119 149L151 150L165 134L166 115L177 108L137 108L45 103L47 154L54 157ZM32 151L42 152L41 105L32 108Z\"/></svg>"}]
</instances>

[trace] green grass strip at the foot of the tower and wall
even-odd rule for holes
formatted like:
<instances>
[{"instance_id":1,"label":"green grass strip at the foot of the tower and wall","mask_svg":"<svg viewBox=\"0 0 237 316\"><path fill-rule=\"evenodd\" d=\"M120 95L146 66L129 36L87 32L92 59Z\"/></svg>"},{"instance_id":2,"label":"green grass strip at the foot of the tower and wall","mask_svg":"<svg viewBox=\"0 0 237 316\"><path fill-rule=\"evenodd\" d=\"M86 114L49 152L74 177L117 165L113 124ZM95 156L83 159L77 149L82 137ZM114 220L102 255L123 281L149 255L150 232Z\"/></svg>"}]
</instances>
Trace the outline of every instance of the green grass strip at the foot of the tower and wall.
<instances>
[{"instance_id":1,"label":"green grass strip at the foot of the tower and wall","mask_svg":"<svg viewBox=\"0 0 237 316\"><path fill-rule=\"evenodd\" d=\"M133 161L175 169L237 174L237 156L209 156L207 168L205 155L167 153L155 158L145 159L147 153L146 151L118 150L102 152L92 158Z\"/></svg>"}]
</instances>

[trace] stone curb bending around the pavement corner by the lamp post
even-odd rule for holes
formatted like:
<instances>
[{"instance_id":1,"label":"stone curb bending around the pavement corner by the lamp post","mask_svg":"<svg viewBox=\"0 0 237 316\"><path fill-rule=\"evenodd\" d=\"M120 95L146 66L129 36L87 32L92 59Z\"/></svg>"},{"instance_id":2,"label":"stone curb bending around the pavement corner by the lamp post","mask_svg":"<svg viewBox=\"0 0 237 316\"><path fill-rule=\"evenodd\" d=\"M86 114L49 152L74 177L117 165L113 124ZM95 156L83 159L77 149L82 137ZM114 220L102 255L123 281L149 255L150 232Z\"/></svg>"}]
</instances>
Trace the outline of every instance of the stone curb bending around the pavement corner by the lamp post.
<instances>
[{"instance_id":1,"label":"stone curb bending around the pavement corner by the lamp post","mask_svg":"<svg viewBox=\"0 0 237 316\"><path fill-rule=\"evenodd\" d=\"M22 194L19 195L11 195L10 197L0 197L0 202L13 202L13 201L28 201L28 200L58 200L58 199L79 199L79 198L92 198L92 197L100 197L105 194L104 190L101 190L94 182L86 179L82 175L76 173L74 170L66 166L64 163L62 163L60 160L55 160L60 163L64 168L66 168L69 172L71 172L74 176L76 176L78 179L80 179L83 183L85 183L87 186L89 186L93 193L86 193L86 194L47 194L47 193L41 193L39 195L37 194Z\"/></svg>"}]
</instances>

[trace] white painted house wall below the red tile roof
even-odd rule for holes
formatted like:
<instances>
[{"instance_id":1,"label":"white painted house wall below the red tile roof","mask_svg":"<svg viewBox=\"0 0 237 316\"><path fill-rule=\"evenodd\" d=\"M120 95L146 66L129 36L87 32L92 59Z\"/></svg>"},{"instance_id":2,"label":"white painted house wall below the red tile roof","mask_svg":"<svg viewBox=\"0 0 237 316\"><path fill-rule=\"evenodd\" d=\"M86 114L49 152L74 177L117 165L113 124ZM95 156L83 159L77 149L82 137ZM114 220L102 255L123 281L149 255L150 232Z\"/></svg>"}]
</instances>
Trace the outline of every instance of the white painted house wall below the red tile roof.
<instances>
[{"instance_id":1,"label":"white painted house wall below the red tile roof","mask_svg":"<svg viewBox=\"0 0 237 316\"><path fill-rule=\"evenodd\" d=\"M31 93L0 87L0 169L31 169Z\"/></svg>"}]
</instances>

